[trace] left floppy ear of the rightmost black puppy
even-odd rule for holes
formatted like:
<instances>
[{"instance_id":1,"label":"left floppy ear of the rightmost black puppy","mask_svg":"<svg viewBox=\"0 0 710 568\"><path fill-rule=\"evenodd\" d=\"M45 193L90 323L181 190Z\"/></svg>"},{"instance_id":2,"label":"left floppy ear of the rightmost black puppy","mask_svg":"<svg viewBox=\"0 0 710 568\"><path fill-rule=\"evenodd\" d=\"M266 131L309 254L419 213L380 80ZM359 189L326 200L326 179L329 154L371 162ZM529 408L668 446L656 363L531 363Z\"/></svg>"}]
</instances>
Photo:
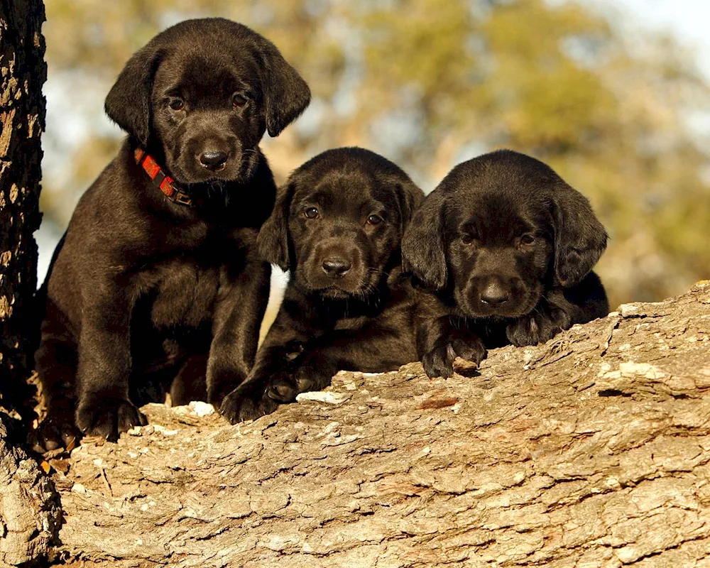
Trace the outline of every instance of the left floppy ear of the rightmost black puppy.
<instances>
[{"instance_id":1,"label":"left floppy ear of the rightmost black puppy","mask_svg":"<svg viewBox=\"0 0 710 568\"><path fill-rule=\"evenodd\" d=\"M434 190L416 209L402 239L402 266L440 290L447 282L444 256L444 197Z\"/></svg>"}]
</instances>

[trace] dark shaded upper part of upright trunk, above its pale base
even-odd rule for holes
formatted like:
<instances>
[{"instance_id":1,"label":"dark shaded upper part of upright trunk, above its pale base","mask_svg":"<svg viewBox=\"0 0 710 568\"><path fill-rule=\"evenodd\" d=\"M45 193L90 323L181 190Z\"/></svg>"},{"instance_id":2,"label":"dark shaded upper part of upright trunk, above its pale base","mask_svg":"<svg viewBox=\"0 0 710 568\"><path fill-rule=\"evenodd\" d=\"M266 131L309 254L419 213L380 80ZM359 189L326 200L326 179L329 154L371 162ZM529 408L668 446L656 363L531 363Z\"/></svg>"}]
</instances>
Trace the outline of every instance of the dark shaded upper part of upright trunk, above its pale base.
<instances>
[{"instance_id":1,"label":"dark shaded upper part of upright trunk, above its pale base","mask_svg":"<svg viewBox=\"0 0 710 568\"><path fill-rule=\"evenodd\" d=\"M6 406L24 402L21 387L39 327L33 233L40 223L44 20L41 0L0 0L0 396Z\"/></svg>"}]
</instances>

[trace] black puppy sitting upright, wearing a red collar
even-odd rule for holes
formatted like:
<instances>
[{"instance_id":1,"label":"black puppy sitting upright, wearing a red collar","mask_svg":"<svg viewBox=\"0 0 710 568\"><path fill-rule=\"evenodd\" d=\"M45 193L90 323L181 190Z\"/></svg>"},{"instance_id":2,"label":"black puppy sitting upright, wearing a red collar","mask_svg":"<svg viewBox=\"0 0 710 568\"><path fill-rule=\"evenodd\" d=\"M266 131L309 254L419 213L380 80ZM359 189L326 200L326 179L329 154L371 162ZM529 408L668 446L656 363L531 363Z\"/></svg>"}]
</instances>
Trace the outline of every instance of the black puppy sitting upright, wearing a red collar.
<instances>
[{"instance_id":1,"label":"black puppy sitting upright, wearing a red collar","mask_svg":"<svg viewBox=\"0 0 710 568\"><path fill-rule=\"evenodd\" d=\"M197 369L219 406L247 376L271 270L256 236L276 191L258 143L309 100L271 42L221 18L178 23L126 63L106 111L129 138L44 285L36 446L66 443L74 424L107 439L143 424L129 384Z\"/></svg>"}]
</instances>

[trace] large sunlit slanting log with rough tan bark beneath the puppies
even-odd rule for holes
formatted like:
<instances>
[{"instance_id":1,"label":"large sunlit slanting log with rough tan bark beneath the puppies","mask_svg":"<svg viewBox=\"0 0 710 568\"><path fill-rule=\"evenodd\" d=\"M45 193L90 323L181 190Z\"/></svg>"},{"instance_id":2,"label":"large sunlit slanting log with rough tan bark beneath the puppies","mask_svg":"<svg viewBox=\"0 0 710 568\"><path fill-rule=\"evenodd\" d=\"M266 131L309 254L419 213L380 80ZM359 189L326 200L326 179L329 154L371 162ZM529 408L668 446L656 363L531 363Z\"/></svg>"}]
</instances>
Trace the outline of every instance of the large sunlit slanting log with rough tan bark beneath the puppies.
<instances>
[{"instance_id":1,"label":"large sunlit slanting log with rough tan bark beneath the puppies","mask_svg":"<svg viewBox=\"0 0 710 568\"><path fill-rule=\"evenodd\" d=\"M342 372L237 426L149 405L151 425L53 461L58 558L710 566L710 283L459 370Z\"/></svg>"}]
</instances>

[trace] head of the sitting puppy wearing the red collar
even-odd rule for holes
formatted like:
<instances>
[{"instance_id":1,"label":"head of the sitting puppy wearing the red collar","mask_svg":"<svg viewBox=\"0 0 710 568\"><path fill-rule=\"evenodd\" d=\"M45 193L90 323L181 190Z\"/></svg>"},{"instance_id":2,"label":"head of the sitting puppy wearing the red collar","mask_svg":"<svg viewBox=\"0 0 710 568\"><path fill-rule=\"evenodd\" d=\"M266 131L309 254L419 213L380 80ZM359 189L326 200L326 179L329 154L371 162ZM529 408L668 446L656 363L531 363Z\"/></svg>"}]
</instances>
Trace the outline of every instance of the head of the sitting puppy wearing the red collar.
<instances>
[{"instance_id":1,"label":"head of the sitting puppy wearing the red collar","mask_svg":"<svg viewBox=\"0 0 710 568\"><path fill-rule=\"evenodd\" d=\"M188 20L131 57L109 92L109 118L185 184L241 181L265 130L278 136L310 90L273 43L222 18Z\"/></svg>"}]
</instances>

